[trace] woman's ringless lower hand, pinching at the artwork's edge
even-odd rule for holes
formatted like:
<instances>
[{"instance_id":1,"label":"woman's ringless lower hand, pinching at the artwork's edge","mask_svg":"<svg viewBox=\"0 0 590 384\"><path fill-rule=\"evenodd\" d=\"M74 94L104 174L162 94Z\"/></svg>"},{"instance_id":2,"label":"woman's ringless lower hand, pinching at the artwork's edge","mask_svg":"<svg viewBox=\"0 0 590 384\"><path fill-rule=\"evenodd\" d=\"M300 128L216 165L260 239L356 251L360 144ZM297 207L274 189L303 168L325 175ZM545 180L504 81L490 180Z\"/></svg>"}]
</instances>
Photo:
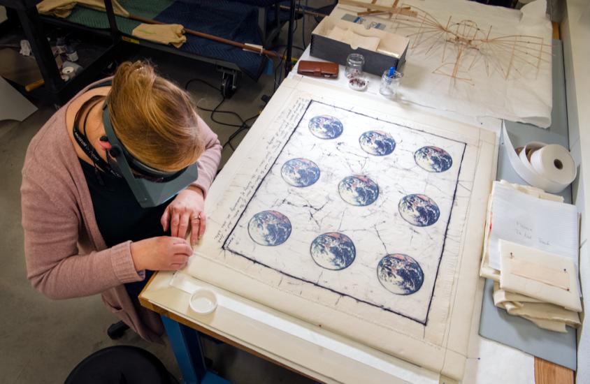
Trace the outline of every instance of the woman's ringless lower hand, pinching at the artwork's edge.
<instances>
[{"instance_id":1,"label":"woman's ringless lower hand, pinching at the artwork's edge","mask_svg":"<svg viewBox=\"0 0 590 384\"><path fill-rule=\"evenodd\" d=\"M192 256L192 246L178 237L160 236L131 243L136 271L175 271L184 268Z\"/></svg>"}]
</instances>

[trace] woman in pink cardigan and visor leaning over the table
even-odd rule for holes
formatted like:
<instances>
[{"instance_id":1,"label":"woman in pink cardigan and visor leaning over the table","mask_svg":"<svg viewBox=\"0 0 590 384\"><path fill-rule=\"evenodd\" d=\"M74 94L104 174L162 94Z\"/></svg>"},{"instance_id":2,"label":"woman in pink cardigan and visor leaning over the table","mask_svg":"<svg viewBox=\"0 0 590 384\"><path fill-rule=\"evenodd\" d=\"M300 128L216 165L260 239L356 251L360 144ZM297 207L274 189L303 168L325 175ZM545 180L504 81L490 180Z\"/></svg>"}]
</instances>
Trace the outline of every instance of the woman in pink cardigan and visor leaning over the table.
<instances>
[{"instance_id":1,"label":"woman in pink cardigan and visor leaning over the table","mask_svg":"<svg viewBox=\"0 0 590 384\"><path fill-rule=\"evenodd\" d=\"M220 158L189 96L150 64L123 63L80 91L31 140L22 169L32 285L52 299L101 293L159 341L161 321L137 296L152 271L186 265Z\"/></svg>"}]
</instances>

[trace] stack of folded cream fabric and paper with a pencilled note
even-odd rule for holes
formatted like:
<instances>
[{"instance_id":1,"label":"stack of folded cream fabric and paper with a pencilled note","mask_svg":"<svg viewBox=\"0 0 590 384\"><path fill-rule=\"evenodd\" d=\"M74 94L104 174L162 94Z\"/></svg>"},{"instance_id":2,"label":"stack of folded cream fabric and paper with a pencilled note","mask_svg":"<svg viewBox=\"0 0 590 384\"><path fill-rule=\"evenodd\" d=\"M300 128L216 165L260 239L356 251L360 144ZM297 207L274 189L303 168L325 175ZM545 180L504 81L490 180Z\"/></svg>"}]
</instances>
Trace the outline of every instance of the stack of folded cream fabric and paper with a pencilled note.
<instances>
[{"instance_id":1,"label":"stack of folded cream fabric and paper with a pencilled note","mask_svg":"<svg viewBox=\"0 0 590 384\"><path fill-rule=\"evenodd\" d=\"M494 182L480 275L493 279L494 304L539 327L580 324L578 216L563 198Z\"/></svg>"}]
</instances>

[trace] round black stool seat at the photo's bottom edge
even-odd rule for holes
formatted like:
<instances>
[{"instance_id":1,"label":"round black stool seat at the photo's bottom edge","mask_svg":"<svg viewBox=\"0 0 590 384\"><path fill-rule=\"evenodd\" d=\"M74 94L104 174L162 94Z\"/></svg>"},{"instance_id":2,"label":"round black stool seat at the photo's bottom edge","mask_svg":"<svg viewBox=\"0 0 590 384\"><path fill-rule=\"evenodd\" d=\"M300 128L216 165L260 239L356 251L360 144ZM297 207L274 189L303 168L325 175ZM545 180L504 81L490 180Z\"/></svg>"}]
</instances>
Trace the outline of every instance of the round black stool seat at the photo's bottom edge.
<instances>
[{"instance_id":1,"label":"round black stool seat at the photo's bottom edge","mask_svg":"<svg viewBox=\"0 0 590 384\"><path fill-rule=\"evenodd\" d=\"M65 384L176 384L157 357L134 346L97 350L78 364Z\"/></svg>"}]
</instances>

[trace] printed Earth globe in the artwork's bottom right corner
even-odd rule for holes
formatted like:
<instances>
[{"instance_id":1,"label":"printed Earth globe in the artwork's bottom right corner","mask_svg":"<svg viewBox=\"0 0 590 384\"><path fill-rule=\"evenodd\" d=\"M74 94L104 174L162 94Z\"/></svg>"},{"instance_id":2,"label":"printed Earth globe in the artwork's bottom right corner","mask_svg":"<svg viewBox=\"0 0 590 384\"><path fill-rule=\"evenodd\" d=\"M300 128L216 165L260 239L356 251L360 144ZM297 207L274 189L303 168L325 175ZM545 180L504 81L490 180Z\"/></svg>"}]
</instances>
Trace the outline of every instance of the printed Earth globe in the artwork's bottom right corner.
<instances>
[{"instance_id":1,"label":"printed Earth globe in the artwork's bottom right corner","mask_svg":"<svg viewBox=\"0 0 590 384\"><path fill-rule=\"evenodd\" d=\"M395 253L381 259L377 265L377 279L391 293L411 295L422 287L424 272L410 256Z\"/></svg>"}]
</instances>

